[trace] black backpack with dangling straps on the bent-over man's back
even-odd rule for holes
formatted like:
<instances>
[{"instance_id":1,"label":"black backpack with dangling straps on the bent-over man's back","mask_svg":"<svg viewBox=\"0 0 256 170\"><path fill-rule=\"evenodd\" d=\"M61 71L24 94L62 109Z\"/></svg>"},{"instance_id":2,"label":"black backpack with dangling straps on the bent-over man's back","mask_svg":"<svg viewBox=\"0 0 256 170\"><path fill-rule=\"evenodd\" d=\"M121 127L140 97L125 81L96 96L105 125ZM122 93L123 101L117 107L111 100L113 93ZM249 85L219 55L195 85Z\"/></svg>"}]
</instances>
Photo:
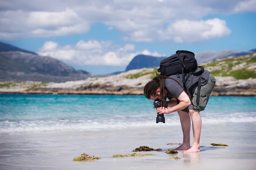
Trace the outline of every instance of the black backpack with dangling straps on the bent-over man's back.
<instances>
[{"instance_id":1,"label":"black backpack with dangling straps on the bent-over man's back","mask_svg":"<svg viewBox=\"0 0 256 170\"><path fill-rule=\"evenodd\" d=\"M167 77L172 76L174 74L182 74L183 85L180 85L180 83L177 80L175 79L174 80L184 89L184 91L186 91L191 101L191 104L193 105L191 94L189 92L189 87L186 87L186 84L187 84L186 82L191 76L191 74L194 74L194 73L202 74L204 72L203 67L200 67L201 68L200 71L197 71L197 68L198 68L198 64L195 59L194 53L192 53L191 51L178 50L176 51L176 54L173 54L172 56L166 59L163 59L160 62L160 68L158 68L157 71L160 72L161 75L164 75ZM189 73L188 76L186 77L186 81L185 81L184 73ZM191 87L192 86L193 85L191 85ZM197 95L196 102L199 105L199 96L200 96L200 89L201 89L200 76L198 78L197 87L198 87L198 95Z\"/></svg>"}]
</instances>

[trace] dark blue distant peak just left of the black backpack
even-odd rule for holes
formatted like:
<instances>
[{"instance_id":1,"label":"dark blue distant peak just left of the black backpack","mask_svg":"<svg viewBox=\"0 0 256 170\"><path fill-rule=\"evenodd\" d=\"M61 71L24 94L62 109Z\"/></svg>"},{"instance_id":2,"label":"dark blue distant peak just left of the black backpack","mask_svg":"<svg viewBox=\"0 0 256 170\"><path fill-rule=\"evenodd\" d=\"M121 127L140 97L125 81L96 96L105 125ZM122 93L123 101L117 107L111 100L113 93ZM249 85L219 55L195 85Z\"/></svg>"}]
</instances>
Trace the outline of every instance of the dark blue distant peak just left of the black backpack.
<instances>
[{"instance_id":1,"label":"dark blue distant peak just left of the black backpack","mask_svg":"<svg viewBox=\"0 0 256 170\"><path fill-rule=\"evenodd\" d=\"M166 57L153 57L147 55L137 55L127 65L125 71L139 68L154 68L159 67L160 61Z\"/></svg>"}]
</instances>

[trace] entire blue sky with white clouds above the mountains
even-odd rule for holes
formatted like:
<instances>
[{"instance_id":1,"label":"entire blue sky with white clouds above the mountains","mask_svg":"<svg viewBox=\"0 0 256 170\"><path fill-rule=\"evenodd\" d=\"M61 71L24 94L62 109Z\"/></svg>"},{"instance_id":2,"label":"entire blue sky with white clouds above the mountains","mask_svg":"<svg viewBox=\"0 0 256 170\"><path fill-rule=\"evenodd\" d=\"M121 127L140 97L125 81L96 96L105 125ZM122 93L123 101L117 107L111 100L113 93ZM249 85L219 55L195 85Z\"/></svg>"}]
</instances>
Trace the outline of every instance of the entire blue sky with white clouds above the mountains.
<instances>
[{"instance_id":1,"label":"entire blue sky with white clouds above the mountains","mask_svg":"<svg viewBox=\"0 0 256 170\"><path fill-rule=\"evenodd\" d=\"M124 71L137 54L256 48L256 0L49 2L4 1L0 41L93 74Z\"/></svg>"}]
</instances>

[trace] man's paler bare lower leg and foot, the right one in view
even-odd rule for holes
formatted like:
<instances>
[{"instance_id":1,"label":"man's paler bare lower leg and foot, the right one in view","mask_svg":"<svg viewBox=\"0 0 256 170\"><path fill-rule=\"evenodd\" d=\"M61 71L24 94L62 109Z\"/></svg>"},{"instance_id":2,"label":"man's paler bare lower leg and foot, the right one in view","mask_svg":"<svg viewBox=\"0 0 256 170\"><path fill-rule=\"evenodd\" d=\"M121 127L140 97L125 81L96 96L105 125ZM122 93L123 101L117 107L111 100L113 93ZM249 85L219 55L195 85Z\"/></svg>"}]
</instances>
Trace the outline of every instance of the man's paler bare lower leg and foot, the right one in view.
<instances>
[{"instance_id":1,"label":"man's paler bare lower leg and foot, the right one in view","mask_svg":"<svg viewBox=\"0 0 256 170\"><path fill-rule=\"evenodd\" d=\"M202 127L201 116L199 111L194 111L189 109L189 113L192 119L194 142L192 144L192 147L189 150L186 150L185 153L200 152L199 142L200 142L200 135L201 135L201 127Z\"/></svg>"}]
</instances>

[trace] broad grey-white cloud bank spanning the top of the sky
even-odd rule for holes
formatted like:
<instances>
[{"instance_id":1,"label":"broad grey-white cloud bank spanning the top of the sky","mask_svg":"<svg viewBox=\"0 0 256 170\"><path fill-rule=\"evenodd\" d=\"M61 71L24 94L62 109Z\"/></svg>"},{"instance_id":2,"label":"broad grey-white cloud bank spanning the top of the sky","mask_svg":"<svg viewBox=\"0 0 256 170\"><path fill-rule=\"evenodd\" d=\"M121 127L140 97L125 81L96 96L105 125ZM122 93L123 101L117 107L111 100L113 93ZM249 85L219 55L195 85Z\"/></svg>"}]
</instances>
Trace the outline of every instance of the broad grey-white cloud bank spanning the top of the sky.
<instances>
[{"instance_id":1,"label":"broad grey-white cloud bank spanning the top of the sky","mask_svg":"<svg viewBox=\"0 0 256 170\"><path fill-rule=\"evenodd\" d=\"M123 40L191 42L188 34L203 31L193 37L198 42L230 34L225 21L202 17L255 9L255 0L1 0L0 38L81 34L103 23L123 33ZM191 29L179 31L178 23Z\"/></svg>"}]
</instances>

